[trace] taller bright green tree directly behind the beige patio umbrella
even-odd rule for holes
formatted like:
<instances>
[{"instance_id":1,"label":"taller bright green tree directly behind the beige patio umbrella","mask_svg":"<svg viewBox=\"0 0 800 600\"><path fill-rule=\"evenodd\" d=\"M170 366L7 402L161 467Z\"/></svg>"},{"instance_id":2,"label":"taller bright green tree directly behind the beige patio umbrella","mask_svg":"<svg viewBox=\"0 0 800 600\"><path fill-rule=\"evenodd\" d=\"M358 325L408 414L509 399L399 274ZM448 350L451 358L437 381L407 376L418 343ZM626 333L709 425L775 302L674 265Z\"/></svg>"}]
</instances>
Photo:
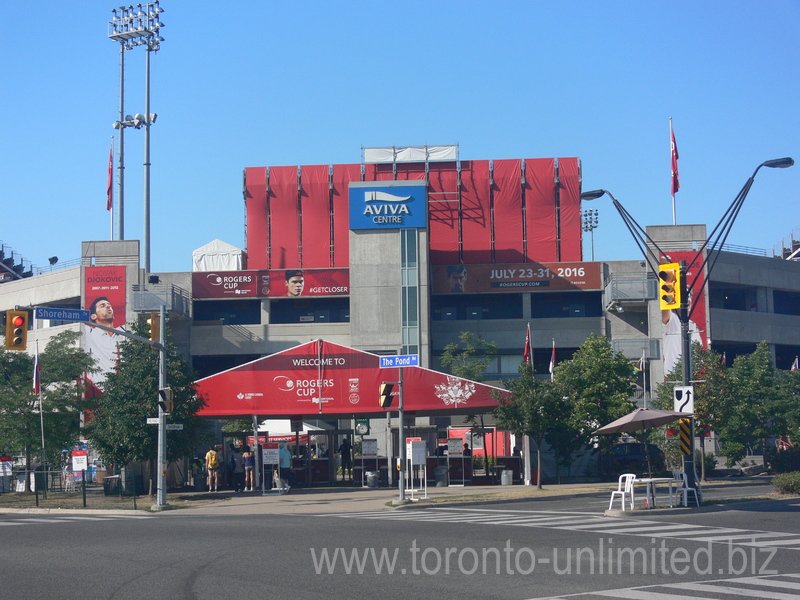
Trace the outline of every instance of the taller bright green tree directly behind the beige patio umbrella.
<instances>
[{"instance_id":1,"label":"taller bright green tree directly behind the beige patio umbrella","mask_svg":"<svg viewBox=\"0 0 800 600\"><path fill-rule=\"evenodd\" d=\"M583 444L591 442L596 429L635 407L631 401L636 389L633 364L622 353L614 354L611 342L601 335L586 338L571 360L556 366L553 377L571 402L572 427ZM597 437L601 457L614 442L614 436Z\"/></svg>"}]
</instances>

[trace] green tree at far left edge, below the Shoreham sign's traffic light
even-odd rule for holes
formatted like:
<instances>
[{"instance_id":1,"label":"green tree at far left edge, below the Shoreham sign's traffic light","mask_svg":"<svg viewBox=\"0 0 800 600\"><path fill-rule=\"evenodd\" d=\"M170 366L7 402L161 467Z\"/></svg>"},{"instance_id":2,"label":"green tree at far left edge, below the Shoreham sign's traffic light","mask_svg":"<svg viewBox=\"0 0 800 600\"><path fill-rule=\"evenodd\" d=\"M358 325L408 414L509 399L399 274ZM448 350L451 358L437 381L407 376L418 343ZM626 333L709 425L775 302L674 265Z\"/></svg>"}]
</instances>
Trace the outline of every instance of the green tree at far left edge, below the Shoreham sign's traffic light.
<instances>
[{"instance_id":1,"label":"green tree at far left edge, below the Shoreham sign's traffic light","mask_svg":"<svg viewBox=\"0 0 800 600\"><path fill-rule=\"evenodd\" d=\"M91 355L78 347L80 333L63 331L39 354L43 412L33 390L34 357L0 348L0 448L22 452L28 465L42 461L42 425L46 460L60 466L63 450L80 437L80 413L86 406L81 393L84 373L94 368Z\"/></svg>"}]
</instances>

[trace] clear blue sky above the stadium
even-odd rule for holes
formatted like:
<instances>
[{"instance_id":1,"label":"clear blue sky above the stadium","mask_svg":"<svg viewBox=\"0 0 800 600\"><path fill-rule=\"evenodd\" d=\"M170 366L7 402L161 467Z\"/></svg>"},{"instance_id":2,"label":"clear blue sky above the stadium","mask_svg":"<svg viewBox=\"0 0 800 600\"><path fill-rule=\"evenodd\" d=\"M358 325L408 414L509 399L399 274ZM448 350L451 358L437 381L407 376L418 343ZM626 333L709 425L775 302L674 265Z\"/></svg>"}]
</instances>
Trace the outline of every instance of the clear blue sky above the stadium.
<instances>
[{"instance_id":1,"label":"clear blue sky above the stadium","mask_svg":"<svg viewBox=\"0 0 800 600\"><path fill-rule=\"evenodd\" d=\"M642 225L722 217L764 160L800 162L800 2L164 0L152 57L151 266L244 247L242 170L355 163L362 146L459 144L462 159L578 156ZM119 110L113 2L3 4L0 239L43 267L110 238ZM144 112L145 52L126 53ZM142 236L143 133L128 130L126 239ZM800 165L762 169L728 242L800 237ZM115 190L116 193L116 190ZM638 250L608 200L595 258ZM19 215L25 218L20 225ZM11 216L13 215L13 219ZM590 254L588 236L585 257Z\"/></svg>"}]
</instances>

